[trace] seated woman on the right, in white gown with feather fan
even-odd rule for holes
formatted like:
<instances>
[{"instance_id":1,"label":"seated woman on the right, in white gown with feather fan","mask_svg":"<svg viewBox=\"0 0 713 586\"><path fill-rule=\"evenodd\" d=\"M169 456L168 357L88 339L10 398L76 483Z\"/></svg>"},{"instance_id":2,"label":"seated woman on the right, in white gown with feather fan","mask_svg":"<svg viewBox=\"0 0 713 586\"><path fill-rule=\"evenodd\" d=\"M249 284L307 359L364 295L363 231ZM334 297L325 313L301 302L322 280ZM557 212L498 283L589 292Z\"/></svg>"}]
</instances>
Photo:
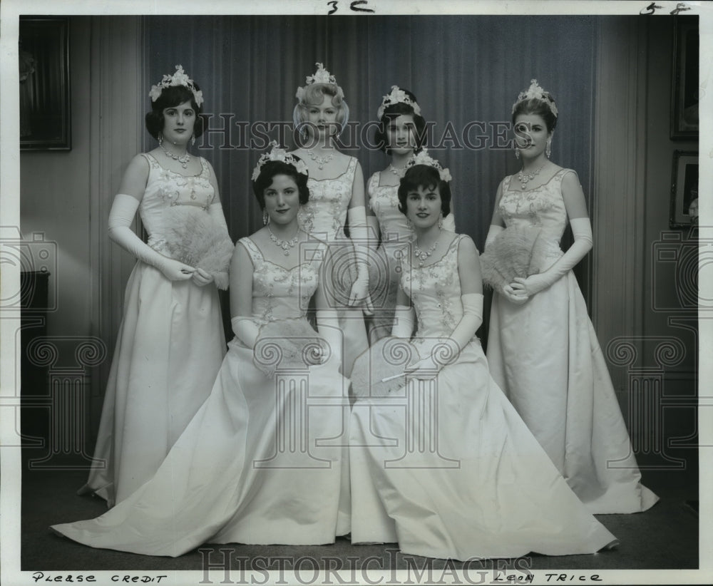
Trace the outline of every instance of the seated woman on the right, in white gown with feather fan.
<instances>
[{"instance_id":1,"label":"seated woman on the right, in white gown with feather fan","mask_svg":"<svg viewBox=\"0 0 713 586\"><path fill-rule=\"evenodd\" d=\"M352 543L458 560L613 547L488 373L475 335L478 251L438 227L450 207L448 170L425 152L411 165L399 201L416 239L402 263L396 337L372 346L376 380L356 389L352 411ZM395 384L380 378L381 356Z\"/></svg>"}]
</instances>

